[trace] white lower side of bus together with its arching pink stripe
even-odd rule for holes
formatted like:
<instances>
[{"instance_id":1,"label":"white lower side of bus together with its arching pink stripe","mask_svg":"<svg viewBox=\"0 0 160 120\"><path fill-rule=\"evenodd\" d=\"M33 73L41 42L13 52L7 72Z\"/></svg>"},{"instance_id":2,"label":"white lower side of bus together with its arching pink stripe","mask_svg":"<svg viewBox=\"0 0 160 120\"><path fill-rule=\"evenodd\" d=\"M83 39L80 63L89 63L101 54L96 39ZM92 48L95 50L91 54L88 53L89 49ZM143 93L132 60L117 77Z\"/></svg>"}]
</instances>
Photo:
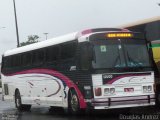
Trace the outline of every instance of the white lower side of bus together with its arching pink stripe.
<instances>
[{"instance_id":1,"label":"white lower side of bus together with its arching pink stripe","mask_svg":"<svg viewBox=\"0 0 160 120\"><path fill-rule=\"evenodd\" d=\"M71 72L68 73L71 75ZM30 69L8 74L3 80L4 84L11 86L8 90L12 89L12 93L6 94L5 100L8 96L14 100L14 92L17 88L21 94L22 104L67 107L68 90L74 88L80 98L80 107L85 108L82 91L69 76L53 69Z\"/></svg>"}]
</instances>

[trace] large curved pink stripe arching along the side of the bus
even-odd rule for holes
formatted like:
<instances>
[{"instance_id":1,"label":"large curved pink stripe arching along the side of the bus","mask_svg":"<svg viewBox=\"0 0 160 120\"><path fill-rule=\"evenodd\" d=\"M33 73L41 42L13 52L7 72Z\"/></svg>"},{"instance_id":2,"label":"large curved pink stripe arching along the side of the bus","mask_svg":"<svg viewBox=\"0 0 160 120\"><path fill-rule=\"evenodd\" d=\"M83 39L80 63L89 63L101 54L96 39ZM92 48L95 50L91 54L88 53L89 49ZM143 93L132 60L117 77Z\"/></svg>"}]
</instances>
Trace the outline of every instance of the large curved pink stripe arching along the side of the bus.
<instances>
[{"instance_id":1,"label":"large curved pink stripe arching along the side of the bus","mask_svg":"<svg viewBox=\"0 0 160 120\"><path fill-rule=\"evenodd\" d=\"M31 70L26 70L22 72L16 72L13 74L7 74L5 76L14 76L14 75L20 75L20 74L35 74L35 73L47 74L47 75L57 77L58 79L62 80L62 82L64 82L69 88L73 87L76 90L77 95L79 97L80 108L86 108L86 102L84 101L84 97L81 91L79 90L79 88L67 76L63 75L62 73L59 73L58 71L50 70L50 69L31 69Z\"/></svg>"}]
</instances>

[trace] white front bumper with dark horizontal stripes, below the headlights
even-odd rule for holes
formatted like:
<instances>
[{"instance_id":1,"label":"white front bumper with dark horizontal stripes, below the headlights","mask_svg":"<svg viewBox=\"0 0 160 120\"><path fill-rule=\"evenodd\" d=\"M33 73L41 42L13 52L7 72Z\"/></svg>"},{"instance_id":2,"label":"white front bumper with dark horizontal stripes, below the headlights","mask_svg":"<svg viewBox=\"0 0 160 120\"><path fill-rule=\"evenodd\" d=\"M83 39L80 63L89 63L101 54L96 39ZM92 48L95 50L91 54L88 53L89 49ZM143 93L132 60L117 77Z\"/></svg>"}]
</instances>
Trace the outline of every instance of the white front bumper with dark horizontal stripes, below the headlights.
<instances>
[{"instance_id":1,"label":"white front bumper with dark horizontal stripes, below the headlights","mask_svg":"<svg viewBox=\"0 0 160 120\"><path fill-rule=\"evenodd\" d=\"M114 109L155 105L155 95L126 96L92 99L94 109Z\"/></svg>"}]
</instances>

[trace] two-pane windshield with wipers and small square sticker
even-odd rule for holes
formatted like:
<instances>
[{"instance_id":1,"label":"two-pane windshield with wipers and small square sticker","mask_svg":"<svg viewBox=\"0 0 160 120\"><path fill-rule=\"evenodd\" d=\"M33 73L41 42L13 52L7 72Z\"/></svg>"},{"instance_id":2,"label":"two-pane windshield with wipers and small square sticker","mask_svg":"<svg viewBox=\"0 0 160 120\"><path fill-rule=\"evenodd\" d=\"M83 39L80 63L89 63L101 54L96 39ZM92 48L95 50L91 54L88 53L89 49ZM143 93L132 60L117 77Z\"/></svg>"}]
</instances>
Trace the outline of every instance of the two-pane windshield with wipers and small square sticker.
<instances>
[{"instance_id":1,"label":"two-pane windshield with wipers and small square sticker","mask_svg":"<svg viewBox=\"0 0 160 120\"><path fill-rule=\"evenodd\" d=\"M150 67L145 40L111 39L93 41L93 68Z\"/></svg>"}]
</instances>

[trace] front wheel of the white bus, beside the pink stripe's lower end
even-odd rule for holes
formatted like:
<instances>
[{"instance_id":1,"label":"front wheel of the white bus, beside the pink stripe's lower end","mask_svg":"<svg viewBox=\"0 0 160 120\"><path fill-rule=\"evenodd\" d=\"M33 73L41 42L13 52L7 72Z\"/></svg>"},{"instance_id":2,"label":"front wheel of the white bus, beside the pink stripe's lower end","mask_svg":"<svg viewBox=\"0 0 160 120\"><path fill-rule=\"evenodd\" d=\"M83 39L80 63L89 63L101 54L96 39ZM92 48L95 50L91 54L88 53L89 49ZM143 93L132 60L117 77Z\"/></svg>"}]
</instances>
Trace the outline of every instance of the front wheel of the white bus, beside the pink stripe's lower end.
<instances>
[{"instance_id":1,"label":"front wheel of the white bus, beside the pink stripe's lower end","mask_svg":"<svg viewBox=\"0 0 160 120\"><path fill-rule=\"evenodd\" d=\"M69 92L68 109L69 109L69 113L73 115L79 114L80 112L79 99L75 90L70 90Z\"/></svg>"}]
</instances>

